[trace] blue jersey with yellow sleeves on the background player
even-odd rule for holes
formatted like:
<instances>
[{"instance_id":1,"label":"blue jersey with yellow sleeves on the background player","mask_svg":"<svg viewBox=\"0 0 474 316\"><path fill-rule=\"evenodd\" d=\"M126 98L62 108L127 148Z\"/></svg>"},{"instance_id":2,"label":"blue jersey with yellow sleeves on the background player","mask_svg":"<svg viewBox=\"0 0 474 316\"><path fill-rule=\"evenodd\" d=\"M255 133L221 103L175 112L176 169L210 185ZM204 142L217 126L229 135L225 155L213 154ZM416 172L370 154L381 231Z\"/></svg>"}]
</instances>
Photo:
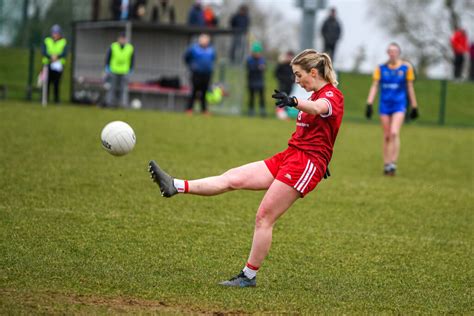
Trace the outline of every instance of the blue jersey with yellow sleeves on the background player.
<instances>
[{"instance_id":1,"label":"blue jersey with yellow sleeves on the background player","mask_svg":"<svg viewBox=\"0 0 474 316\"><path fill-rule=\"evenodd\" d=\"M409 63L402 62L395 67L379 65L374 71L373 80L379 81L381 107L407 106L407 82L415 80L413 67Z\"/></svg>"}]
</instances>

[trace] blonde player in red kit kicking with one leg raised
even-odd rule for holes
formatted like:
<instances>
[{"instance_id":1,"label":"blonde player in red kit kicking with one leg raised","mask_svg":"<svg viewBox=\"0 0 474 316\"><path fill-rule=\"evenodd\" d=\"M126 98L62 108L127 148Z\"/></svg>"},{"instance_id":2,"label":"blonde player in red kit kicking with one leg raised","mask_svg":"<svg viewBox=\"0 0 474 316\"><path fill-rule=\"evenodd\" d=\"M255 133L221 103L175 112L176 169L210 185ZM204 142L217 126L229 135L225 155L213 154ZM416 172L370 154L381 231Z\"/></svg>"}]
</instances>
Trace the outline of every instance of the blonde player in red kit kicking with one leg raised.
<instances>
[{"instance_id":1,"label":"blonde player in red kit kicking with one leg raised","mask_svg":"<svg viewBox=\"0 0 474 316\"><path fill-rule=\"evenodd\" d=\"M275 90L278 107L299 110L296 131L288 148L273 157L249 163L214 177L174 179L151 161L149 171L162 196L177 193L211 196L231 190L267 190L257 210L252 248L243 270L223 286L256 286L256 274L272 243L276 220L299 198L314 190L331 160L334 142L344 112L343 95L331 59L325 53L306 49L291 61L295 81L313 94L308 100Z\"/></svg>"}]
</instances>

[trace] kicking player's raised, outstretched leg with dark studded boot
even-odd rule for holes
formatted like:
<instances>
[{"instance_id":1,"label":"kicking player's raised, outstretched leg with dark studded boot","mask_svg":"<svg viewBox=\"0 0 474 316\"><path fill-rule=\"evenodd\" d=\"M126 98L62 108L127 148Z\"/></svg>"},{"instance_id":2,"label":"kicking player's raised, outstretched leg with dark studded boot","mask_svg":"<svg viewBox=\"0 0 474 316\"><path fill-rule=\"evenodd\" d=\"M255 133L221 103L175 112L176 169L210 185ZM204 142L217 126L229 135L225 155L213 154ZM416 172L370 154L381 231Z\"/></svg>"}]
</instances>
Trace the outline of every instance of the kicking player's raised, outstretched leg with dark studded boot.
<instances>
[{"instance_id":1,"label":"kicking player's raised, outstretched leg with dark studded boot","mask_svg":"<svg viewBox=\"0 0 474 316\"><path fill-rule=\"evenodd\" d=\"M252 162L230 169L219 176L197 180L173 179L154 162L150 162L150 173L159 185L163 196L171 197L176 193L196 195L217 195L232 190L265 190L273 182L273 175L263 161Z\"/></svg>"}]
</instances>

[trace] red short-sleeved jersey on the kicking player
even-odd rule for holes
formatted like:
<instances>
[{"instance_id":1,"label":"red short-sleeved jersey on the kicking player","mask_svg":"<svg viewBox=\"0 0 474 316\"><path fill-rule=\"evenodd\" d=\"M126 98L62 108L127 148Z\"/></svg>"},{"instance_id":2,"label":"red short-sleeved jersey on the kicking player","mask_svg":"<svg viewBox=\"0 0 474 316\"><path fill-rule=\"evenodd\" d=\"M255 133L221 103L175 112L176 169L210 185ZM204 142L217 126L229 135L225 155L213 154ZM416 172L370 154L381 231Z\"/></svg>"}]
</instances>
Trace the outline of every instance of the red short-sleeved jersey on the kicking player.
<instances>
[{"instance_id":1,"label":"red short-sleeved jersey on the kicking player","mask_svg":"<svg viewBox=\"0 0 474 316\"><path fill-rule=\"evenodd\" d=\"M331 161L344 114L344 96L341 91L328 83L310 97L311 101L318 99L327 102L329 112L313 115L300 111L296 119L296 131L291 135L288 145L304 151L312 159L323 160L327 165Z\"/></svg>"}]
</instances>

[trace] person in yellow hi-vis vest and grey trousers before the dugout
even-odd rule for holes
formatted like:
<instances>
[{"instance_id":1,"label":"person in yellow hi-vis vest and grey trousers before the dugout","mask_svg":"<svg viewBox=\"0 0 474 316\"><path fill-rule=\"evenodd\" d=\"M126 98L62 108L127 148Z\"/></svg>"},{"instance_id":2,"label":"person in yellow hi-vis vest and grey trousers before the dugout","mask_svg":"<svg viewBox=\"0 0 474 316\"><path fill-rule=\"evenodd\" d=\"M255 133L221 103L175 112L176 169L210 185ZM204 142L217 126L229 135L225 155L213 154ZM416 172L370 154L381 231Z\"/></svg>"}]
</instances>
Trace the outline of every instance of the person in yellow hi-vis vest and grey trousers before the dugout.
<instances>
[{"instance_id":1,"label":"person in yellow hi-vis vest and grey trousers before the dugout","mask_svg":"<svg viewBox=\"0 0 474 316\"><path fill-rule=\"evenodd\" d=\"M127 37L121 33L117 42L112 43L107 50L105 72L107 73L109 89L106 95L106 106L116 107L117 94L120 94L122 107L128 106L128 80L134 66L134 48L127 42Z\"/></svg>"}]
</instances>

